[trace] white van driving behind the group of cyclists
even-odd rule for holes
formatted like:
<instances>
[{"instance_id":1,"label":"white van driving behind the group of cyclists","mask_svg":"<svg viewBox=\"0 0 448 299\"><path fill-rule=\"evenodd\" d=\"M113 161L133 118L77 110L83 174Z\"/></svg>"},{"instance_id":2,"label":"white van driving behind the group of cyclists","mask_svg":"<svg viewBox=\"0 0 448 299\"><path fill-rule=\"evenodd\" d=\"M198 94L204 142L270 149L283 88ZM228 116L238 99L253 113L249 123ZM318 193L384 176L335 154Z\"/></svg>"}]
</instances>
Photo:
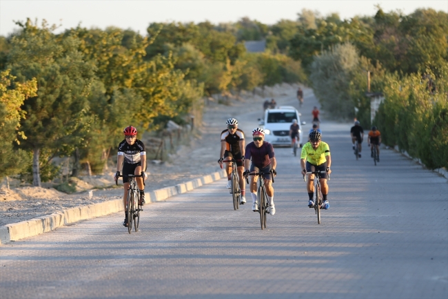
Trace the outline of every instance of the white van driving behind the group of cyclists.
<instances>
[{"instance_id":1,"label":"white van driving behind the group of cyclists","mask_svg":"<svg viewBox=\"0 0 448 299\"><path fill-rule=\"evenodd\" d=\"M289 127L292 125L292 119L297 119L299 126L298 136L300 145L307 142L303 140L301 114L293 106L280 106L274 109L265 110L265 119L258 119L259 125L266 132L265 140L276 146L291 146L291 137L289 136Z\"/></svg>"}]
</instances>

